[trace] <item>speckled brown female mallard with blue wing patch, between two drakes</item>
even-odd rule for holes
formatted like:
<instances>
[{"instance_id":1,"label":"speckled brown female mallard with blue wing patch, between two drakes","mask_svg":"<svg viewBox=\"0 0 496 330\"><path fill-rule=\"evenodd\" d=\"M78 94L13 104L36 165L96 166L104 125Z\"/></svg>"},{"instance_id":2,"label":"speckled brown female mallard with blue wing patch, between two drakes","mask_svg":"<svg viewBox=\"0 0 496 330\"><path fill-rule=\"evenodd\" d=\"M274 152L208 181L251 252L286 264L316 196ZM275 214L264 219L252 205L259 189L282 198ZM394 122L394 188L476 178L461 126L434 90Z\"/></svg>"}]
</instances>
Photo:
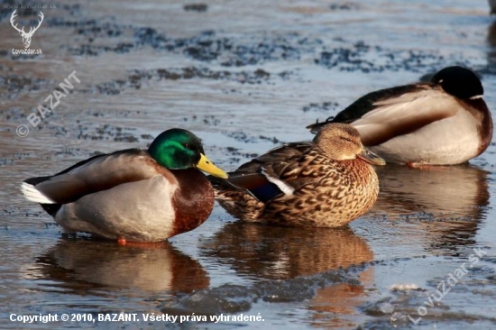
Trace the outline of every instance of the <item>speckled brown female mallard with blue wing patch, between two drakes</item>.
<instances>
[{"instance_id":1,"label":"speckled brown female mallard with blue wing patch, between two drakes","mask_svg":"<svg viewBox=\"0 0 496 330\"><path fill-rule=\"evenodd\" d=\"M272 149L229 173L208 177L216 200L245 221L335 227L363 215L377 199L381 160L349 124L328 124L313 142Z\"/></svg>"}]
</instances>

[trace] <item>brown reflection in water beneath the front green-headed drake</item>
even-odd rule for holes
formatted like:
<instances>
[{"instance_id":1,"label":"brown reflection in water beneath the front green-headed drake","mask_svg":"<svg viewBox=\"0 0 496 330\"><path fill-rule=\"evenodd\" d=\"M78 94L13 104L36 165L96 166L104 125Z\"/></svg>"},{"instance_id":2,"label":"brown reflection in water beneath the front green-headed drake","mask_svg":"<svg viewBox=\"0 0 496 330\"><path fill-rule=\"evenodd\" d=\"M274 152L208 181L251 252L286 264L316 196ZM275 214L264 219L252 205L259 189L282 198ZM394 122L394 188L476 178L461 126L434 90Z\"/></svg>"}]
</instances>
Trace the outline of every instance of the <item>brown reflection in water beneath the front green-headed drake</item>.
<instances>
[{"instance_id":1,"label":"brown reflection in water beneath the front green-headed drake","mask_svg":"<svg viewBox=\"0 0 496 330\"><path fill-rule=\"evenodd\" d=\"M41 270L36 277L62 281L69 290L106 287L190 292L209 285L207 271L167 242L143 249L95 239L62 239L38 257L35 269Z\"/></svg>"}]
</instances>

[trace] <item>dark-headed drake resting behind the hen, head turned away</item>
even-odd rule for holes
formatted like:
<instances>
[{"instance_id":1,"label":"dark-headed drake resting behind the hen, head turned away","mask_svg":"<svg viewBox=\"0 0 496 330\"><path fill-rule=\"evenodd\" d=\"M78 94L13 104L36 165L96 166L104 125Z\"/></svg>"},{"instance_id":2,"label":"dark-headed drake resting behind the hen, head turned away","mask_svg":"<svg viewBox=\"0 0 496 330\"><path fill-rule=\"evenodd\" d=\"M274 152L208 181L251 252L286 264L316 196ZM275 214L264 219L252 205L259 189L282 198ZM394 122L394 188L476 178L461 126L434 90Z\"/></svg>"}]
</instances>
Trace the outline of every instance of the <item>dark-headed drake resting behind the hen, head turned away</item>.
<instances>
[{"instance_id":1,"label":"dark-headed drake resting behind the hen, head turned away","mask_svg":"<svg viewBox=\"0 0 496 330\"><path fill-rule=\"evenodd\" d=\"M381 89L360 97L334 118L311 124L352 124L363 145L399 164L451 165L480 155L491 143L491 113L482 83L462 67L438 71L430 82Z\"/></svg>"}]
</instances>

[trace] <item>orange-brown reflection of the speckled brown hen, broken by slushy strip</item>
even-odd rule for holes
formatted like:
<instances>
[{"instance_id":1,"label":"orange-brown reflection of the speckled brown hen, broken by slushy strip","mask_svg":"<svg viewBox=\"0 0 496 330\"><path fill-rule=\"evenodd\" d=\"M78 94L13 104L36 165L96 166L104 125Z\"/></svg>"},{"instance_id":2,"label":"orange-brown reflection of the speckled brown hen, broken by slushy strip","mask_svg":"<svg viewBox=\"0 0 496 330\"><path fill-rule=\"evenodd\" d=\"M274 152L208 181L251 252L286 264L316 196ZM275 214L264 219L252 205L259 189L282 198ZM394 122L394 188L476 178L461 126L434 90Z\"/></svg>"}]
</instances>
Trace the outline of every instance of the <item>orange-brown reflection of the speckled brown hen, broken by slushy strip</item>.
<instances>
[{"instance_id":1,"label":"orange-brown reflection of the speckled brown hen, broken by slushy strip","mask_svg":"<svg viewBox=\"0 0 496 330\"><path fill-rule=\"evenodd\" d=\"M202 253L229 264L240 275L256 280L289 280L372 261L372 249L353 230L295 228L235 222L202 243ZM373 267L359 272L359 282L334 283L316 289L307 306L315 322L332 316L333 325L353 323L356 308L372 287ZM318 275L317 275L318 276ZM313 321L312 321L313 322Z\"/></svg>"}]
</instances>

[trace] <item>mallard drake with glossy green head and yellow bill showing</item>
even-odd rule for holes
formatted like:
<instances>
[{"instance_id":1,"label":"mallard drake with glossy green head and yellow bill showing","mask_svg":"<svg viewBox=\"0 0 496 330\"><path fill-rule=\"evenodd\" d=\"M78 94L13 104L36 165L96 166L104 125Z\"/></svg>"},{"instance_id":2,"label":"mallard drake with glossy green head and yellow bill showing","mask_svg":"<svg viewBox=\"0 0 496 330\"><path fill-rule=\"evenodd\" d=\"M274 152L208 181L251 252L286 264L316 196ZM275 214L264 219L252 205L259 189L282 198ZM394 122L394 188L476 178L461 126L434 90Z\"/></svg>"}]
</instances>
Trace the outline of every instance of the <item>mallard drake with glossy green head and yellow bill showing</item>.
<instances>
[{"instance_id":1,"label":"mallard drake with glossy green head and yellow bill showing","mask_svg":"<svg viewBox=\"0 0 496 330\"><path fill-rule=\"evenodd\" d=\"M197 169L227 178L196 135L173 128L148 151L97 155L54 176L26 179L21 188L69 233L158 242L197 228L212 212L214 191Z\"/></svg>"}]
</instances>

